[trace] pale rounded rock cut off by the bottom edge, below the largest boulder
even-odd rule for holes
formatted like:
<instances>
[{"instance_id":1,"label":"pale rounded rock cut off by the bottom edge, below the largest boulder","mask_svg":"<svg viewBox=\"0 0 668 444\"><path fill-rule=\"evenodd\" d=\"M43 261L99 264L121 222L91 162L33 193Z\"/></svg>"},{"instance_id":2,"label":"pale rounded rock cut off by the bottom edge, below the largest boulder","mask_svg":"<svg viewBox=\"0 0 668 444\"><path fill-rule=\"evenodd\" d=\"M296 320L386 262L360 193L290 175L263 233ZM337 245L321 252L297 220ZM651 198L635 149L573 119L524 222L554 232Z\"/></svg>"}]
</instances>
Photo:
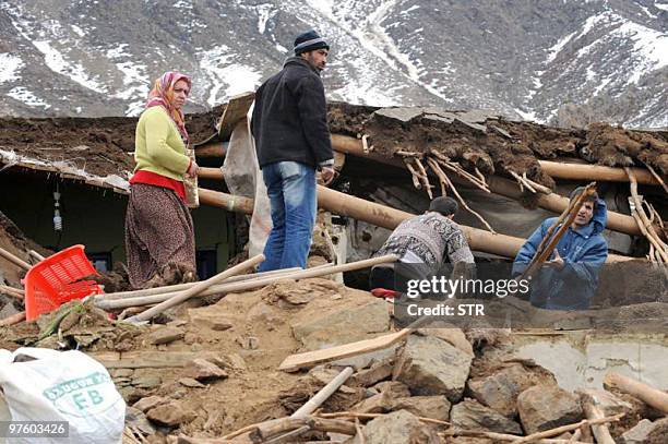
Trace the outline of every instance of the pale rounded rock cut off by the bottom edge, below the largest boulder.
<instances>
[{"instance_id":1,"label":"pale rounded rock cut off by the bottom edge, below the largest boulder","mask_svg":"<svg viewBox=\"0 0 668 444\"><path fill-rule=\"evenodd\" d=\"M353 444L438 444L436 431L422 424L415 415L398 410L369 421Z\"/></svg>"}]
</instances>

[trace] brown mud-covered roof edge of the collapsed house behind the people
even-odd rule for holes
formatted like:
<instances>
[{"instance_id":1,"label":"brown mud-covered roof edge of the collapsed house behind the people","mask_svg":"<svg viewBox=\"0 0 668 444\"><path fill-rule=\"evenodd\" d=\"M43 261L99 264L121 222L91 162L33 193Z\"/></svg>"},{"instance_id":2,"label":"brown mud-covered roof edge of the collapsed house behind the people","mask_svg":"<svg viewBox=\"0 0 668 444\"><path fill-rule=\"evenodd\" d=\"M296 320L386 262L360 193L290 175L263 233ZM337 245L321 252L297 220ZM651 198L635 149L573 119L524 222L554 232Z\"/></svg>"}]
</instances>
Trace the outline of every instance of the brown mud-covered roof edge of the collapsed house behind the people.
<instances>
[{"instance_id":1,"label":"brown mud-covered roof edge of the collapsed house behind the people","mask_svg":"<svg viewBox=\"0 0 668 444\"><path fill-rule=\"evenodd\" d=\"M243 107L248 110L249 96ZM252 97L251 97L252 99ZM241 101L241 100L240 100ZM231 101L230 101L231 104ZM187 116L195 145L218 142L226 105ZM552 188L538 159L571 158L611 167L649 165L668 173L668 132L634 131L606 123L588 129L511 121L482 110L374 108L332 103L332 133L365 137L377 155L430 155L433 151L485 176L523 175ZM63 177L126 189L133 169L136 118L0 119L0 161L58 171Z\"/></svg>"}]
</instances>

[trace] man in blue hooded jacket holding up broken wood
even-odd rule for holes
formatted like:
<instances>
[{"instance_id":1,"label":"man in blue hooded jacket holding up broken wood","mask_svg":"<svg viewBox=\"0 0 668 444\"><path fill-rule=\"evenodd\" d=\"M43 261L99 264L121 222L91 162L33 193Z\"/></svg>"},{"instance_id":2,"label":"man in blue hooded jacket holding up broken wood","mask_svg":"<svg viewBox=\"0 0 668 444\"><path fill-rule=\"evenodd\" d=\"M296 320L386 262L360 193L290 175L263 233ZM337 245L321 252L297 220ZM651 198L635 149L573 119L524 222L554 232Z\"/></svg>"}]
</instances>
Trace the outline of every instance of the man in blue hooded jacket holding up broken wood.
<instances>
[{"instance_id":1,"label":"man in blue hooded jacket holding up broken wood","mask_svg":"<svg viewBox=\"0 0 668 444\"><path fill-rule=\"evenodd\" d=\"M571 193L571 201L584 191ZM534 276L532 304L548 310L586 310L598 287L598 269L608 257L605 201L594 193L583 204L573 224L557 242L545 266ZM526 240L513 263L513 275L522 274L557 217L546 219ZM554 230L557 232L557 229Z\"/></svg>"}]
</instances>

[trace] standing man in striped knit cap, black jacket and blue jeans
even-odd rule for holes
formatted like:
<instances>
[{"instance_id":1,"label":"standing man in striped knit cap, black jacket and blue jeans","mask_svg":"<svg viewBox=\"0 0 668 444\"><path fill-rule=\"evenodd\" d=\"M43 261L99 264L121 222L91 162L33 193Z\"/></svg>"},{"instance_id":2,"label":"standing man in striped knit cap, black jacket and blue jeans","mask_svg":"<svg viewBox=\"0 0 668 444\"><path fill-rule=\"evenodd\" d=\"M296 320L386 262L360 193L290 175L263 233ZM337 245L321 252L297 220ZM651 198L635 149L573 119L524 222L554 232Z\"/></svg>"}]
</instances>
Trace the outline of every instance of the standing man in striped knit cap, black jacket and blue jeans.
<instances>
[{"instance_id":1,"label":"standing man in striped knit cap, black jacket and blue jeans","mask_svg":"<svg viewBox=\"0 0 668 444\"><path fill-rule=\"evenodd\" d=\"M315 169L334 177L324 87L330 46L314 31L295 40L295 57L255 93L251 130L266 184L272 231L261 272L306 267L315 224Z\"/></svg>"}]
</instances>

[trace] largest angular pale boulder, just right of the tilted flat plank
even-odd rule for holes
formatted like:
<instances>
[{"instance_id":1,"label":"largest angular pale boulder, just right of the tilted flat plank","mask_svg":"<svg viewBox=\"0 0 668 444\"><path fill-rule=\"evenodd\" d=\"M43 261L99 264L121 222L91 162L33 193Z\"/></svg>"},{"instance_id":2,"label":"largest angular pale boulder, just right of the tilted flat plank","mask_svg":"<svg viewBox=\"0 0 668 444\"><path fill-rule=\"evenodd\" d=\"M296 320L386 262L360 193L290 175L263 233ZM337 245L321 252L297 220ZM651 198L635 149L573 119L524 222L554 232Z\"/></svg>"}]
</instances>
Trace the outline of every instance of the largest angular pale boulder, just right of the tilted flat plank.
<instances>
[{"instance_id":1,"label":"largest angular pale boulder, just right of the tilted flat plank","mask_svg":"<svg viewBox=\"0 0 668 444\"><path fill-rule=\"evenodd\" d=\"M434 337L410 335L394 367L393 379L415 395L445 395L456 403L464 393L472 357Z\"/></svg>"}]
</instances>

